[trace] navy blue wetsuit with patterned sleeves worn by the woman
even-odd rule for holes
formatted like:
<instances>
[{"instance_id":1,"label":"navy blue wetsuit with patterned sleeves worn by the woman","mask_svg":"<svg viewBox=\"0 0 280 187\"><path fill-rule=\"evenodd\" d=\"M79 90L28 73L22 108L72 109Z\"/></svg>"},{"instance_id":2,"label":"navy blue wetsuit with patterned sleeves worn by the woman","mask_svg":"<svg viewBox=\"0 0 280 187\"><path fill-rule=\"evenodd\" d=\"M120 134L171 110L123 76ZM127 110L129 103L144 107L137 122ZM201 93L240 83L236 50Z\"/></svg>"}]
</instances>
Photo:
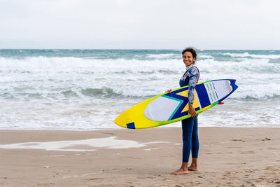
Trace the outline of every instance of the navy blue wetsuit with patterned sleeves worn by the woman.
<instances>
[{"instance_id":1,"label":"navy blue wetsuit with patterned sleeves worn by the woman","mask_svg":"<svg viewBox=\"0 0 280 187\"><path fill-rule=\"evenodd\" d=\"M180 80L180 86L189 85L188 102L193 104L195 98L195 85L200 78L200 71L197 67L191 67L183 74ZM192 157L197 158L200 143L197 134L197 116L182 120L183 134L183 162L188 162L190 158L190 150Z\"/></svg>"}]
</instances>

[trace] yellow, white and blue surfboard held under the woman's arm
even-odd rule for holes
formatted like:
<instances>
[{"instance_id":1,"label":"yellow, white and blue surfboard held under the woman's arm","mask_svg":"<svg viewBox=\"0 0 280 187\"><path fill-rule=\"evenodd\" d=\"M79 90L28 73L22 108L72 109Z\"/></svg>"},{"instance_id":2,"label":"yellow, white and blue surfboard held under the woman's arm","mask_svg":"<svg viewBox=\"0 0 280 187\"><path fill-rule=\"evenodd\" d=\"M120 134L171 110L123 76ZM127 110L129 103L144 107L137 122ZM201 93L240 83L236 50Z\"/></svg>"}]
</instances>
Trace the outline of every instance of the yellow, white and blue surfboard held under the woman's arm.
<instances>
[{"instance_id":1,"label":"yellow, white and blue surfboard held under the woman's arm","mask_svg":"<svg viewBox=\"0 0 280 187\"><path fill-rule=\"evenodd\" d=\"M195 111L197 113L206 111L227 98L238 88L235 81L234 79L220 79L197 83L193 102ZM121 113L115 123L120 127L143 129L174 123L190 117L188 86L184 86L132 106Z\"/></svg>"}]
</instances>

